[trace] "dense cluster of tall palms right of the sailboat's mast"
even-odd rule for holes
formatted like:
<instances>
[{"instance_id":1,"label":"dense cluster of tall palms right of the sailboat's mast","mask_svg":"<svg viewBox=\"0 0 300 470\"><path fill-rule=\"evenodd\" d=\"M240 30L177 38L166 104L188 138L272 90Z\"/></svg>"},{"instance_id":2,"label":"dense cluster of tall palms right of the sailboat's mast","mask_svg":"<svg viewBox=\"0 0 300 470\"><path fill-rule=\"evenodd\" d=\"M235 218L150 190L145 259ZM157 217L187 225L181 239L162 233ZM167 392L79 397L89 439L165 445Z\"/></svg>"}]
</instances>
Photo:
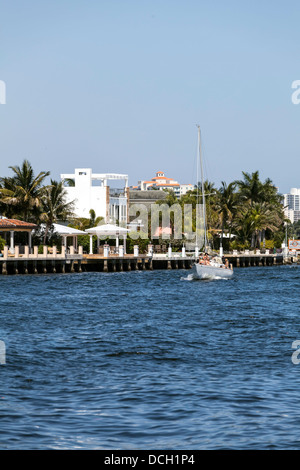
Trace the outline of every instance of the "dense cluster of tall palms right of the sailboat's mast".
<instances>
[{"instance_id":1,"label":"dense cluster of tall palms right of the sailboat's mast","mask_svg":"<svg viewBox=\"0 0 300 470\"><path fill-rule=\"evenodd\" d=\"M202 185L197 186L179 200L169 192L158 203L192 204L195 211L196 204L202 203ZM204 195L207 236L213 249L220 244L227 250L281 247L286 223L283 196L269 178L261 181L255 171L242 172L242 179L229 184L222 181L219 188L205 181Z\"/></svg>"}]
</instances>

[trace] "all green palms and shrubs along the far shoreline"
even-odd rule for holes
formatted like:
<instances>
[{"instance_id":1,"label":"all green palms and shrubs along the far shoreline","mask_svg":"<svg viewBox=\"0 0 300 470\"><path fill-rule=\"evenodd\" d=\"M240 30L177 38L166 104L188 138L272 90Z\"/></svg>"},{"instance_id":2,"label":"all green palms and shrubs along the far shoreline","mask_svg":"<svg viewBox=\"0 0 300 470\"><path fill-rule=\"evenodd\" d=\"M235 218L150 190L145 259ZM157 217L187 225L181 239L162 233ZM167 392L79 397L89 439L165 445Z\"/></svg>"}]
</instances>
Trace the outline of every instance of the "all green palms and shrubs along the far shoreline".
<instances>
[{"instance_id":1,"label":"all green palms and shrubs along the far shoreline","mask_svg":"<svg viewBox=\"0 0 300 470\"><path fill-rule=\"evenodd\" d=\"M93 209L90 210L89 219L75 217L74 203L67 202L63 183L50 179L50 183L46 184L46 178L50 177L49 171L41 171L36 175L28 160L24 160L20 167L10 166L9 169L12 176L0 177L0 215L35 223L38 226L33 237L36 245L60 246L60 237L53 232L54 223L64 222L79 230L99 225L101 221L103 223L103 218L97 217ZM300 232L300 224L290 224L284 216L283 196L269 178L261 181L258 171L242 172L240 180L229 184L222 181L219 188L214 183L205 181L204 192L208 241L214 250L220 248L220 243L225 252L256 248L276 250L285 240L287 223L289 236L297 237L298 231ZM190 204L195 212L200 198L201 184L198 183L198 188L195 186L194 190L179 199L172 191L168 191L166 198L156 204L167 204L170 207L179 204L182 208L185 204ZM174 217L171 212L171 229L173 226ZM24 234L16 234L16 237L16 242L22 243ZM149 243L166 243L161 238L133 238L130 238L129 233L128 252L136 244L144 252ZM107 241L114 243L114 240ZM176 251L181 250L185 241L184 236L180 240L171 236L168 242ZM87 250L89 235L78 237L78 243ZM96 237L94 243L96 246ZM0 248L3 244L5 240L0 237Z\"/></svg>"}]
</instances>

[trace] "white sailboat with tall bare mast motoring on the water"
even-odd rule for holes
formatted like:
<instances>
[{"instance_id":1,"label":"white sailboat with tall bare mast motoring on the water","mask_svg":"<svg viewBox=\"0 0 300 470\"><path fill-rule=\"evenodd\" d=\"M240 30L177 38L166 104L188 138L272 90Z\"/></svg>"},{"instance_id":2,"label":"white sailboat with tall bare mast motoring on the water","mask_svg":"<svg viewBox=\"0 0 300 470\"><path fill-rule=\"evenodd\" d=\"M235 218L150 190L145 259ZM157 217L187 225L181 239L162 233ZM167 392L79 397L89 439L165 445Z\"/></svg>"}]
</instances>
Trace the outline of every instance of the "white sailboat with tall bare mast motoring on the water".
<instances>
[{"instance_id":1,"label":"white sailboat with tall bare mast motoring on the water","mask_svg":"<svg viewBox=\"0 0 300 470\"><path fill-rule=\"evenodd\" d=\"M229 266L223 264L222 258L218 256L209 257L208 253L206 253L206 251L208 251L207 229L206 229L206 201L205 201L205 193L204 193L204 174L203 174L203 162L202 162L202 151L201 151L201 133L200 133L200 127L199 126L197 127L198 127L199 159L200 159L200 168L201 168L201 188L202 188L202 204L203 204L203 219L204 219L205 254L202 257L202 259L200 257L200 259L193 265L192 276L193 276L193 279L229 279L233 276L233 270ZM197 180L198 180L198 177L197 177ZM197 191L198 191L198 187L197 187ZM196 238L196 246L198 246L197 238Z\"/></svg>"}]
</instances>

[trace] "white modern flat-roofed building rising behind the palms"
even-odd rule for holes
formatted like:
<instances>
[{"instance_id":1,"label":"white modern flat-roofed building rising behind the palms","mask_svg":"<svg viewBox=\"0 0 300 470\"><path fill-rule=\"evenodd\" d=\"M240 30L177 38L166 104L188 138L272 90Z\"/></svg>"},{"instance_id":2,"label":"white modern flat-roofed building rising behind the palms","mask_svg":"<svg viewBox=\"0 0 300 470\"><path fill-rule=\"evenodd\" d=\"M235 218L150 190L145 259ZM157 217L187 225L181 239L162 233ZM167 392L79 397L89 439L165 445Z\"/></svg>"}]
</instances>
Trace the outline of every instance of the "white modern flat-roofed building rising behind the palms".
<instances>
[{"instance_id":1,"label":"white modern flat-roofed building rising behind the palms","mask_svg":"<svg viewBox=\"0 0 300 470\"><path fill-rule=\"evenodd\" d=\"M75 202L77 217L90 217L93 209L105 223L127 223L129 188L128 175L92 173L91 168L76 168L73 174L60 175L64 181L68 201ZM111 189L108 181L123 181L121 189Z\"/></svg>"}]
</instances>

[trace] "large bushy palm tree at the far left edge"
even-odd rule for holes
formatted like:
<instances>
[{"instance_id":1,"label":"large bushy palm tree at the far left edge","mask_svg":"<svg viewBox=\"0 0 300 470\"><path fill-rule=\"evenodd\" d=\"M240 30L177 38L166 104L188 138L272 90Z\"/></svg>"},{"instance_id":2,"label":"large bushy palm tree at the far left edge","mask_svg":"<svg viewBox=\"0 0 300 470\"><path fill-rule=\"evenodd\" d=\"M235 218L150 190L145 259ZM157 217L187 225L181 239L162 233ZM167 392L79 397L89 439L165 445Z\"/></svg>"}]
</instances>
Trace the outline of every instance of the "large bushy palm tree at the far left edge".
<instances>
[{"instance_id":1,"label":"large bushy palm tree at the far left edge","mask_svg":"<svg viewBox=\"0 0 300 470\"><path fill-rule=\"evenodd\" d=\"M35 176L28 160L21 167L9 167L14 176L0 178L1 202L8 212L14 213L26 221L36 221L41 209L41 199L45 187L42 186L49 171L41 171Z\"/></svg>"}]
</instances>

